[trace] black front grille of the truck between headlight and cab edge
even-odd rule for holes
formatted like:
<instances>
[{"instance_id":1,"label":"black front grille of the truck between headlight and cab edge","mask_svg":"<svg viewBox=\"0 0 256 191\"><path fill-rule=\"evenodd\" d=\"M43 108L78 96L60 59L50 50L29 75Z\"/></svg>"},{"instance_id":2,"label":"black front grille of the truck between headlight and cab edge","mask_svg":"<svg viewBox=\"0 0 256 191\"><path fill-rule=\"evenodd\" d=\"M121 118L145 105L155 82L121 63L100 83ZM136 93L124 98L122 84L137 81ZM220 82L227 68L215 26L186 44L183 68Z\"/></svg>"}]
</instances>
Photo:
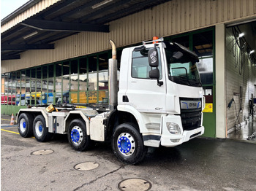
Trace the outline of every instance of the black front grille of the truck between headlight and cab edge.
<instances>
[{"instance_id":1,"label":"black front grille of the truck between headlight and cab edge","mask_svg":"<svg viewBox=\"0 0 256 191\"><path fill-rule=\"evenodd\" d=\"M181 123L183 130L193 130L195 128L199 128L201 125L201 116L201 108L181 109Z\"/></svg>"}]
</instances>

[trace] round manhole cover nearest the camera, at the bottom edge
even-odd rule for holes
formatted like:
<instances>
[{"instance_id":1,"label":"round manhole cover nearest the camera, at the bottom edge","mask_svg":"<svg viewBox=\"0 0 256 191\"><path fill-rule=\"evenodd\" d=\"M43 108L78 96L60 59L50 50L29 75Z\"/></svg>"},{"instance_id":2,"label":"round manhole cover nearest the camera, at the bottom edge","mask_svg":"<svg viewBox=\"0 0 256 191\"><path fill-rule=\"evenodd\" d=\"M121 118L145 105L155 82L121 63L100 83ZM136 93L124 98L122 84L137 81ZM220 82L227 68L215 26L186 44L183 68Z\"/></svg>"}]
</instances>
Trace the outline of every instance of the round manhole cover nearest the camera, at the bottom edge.
<instances>
[{"instance_id":1,"label":"round manhole cover nearest the camera, at the bottom edge","mask_svg":"<svg viewBox=\"0 0 256 191\"><path fill-rule=\"evenodd\" d=\"M144 179L125 179L118 184L118 188L124 191L146 191L151 187L151 183Z\"/></svg>"}]
</instances>

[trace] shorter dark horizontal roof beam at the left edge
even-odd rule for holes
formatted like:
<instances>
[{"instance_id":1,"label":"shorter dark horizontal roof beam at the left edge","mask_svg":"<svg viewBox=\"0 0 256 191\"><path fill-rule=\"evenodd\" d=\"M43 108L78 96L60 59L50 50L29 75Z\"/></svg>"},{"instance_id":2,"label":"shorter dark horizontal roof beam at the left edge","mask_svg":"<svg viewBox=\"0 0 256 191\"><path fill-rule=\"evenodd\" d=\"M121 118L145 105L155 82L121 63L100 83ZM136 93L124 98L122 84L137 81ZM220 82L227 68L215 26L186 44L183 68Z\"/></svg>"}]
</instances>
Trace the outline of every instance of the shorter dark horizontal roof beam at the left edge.
<instances>
[{"instance_id":1,"label":"shorter dark horizontal roof beam at the left edge","mask_svg":"<svg viewBox=\"0 0 256 191\"><path fill-rule=\"evenodd\" d=\"M10 50L54 49L54 44L1 44L1 52Z\"/></svg>"}]
</instances>

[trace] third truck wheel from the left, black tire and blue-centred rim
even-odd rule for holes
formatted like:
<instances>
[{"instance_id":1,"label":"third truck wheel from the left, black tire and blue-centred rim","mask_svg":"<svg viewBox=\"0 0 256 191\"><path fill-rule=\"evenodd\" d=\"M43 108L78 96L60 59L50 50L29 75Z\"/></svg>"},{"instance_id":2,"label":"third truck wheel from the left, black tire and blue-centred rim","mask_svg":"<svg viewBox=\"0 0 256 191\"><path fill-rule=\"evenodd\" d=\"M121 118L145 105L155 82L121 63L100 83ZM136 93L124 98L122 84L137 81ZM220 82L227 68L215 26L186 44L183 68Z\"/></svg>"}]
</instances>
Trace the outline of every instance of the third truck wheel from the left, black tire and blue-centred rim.
<instances>
[{"instance_id":1,"label":"third truck wheel from the left, black tire and blue-centred rim","mask_svg":"<svg viewBox=\"0 0 256 191\"><path fill-rule=\"evenodd\" d=\"M86 124L81 119L70 122L67 138L71 147L77 151L84 151L91 146L90 136L86 134Z\"/></svg>"}]
</instances>

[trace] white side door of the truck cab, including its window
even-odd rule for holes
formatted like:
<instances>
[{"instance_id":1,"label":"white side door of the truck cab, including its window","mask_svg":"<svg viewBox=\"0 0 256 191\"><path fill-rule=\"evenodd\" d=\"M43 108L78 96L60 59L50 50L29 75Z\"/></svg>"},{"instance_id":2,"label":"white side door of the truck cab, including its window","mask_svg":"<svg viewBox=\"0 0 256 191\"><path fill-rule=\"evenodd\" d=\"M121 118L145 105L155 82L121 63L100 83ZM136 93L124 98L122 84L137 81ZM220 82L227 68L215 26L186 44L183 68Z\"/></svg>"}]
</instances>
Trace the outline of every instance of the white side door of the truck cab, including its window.
<instances>
[{"instance_id":1,"label":"white side door of the truck cab, including its window","mask_svg":"<svg viewBox=\"0 0 256 191\"><path fill-rule=\"evenodd\" d=\"M165 112L165 72L162 70L162 55L160 48L157 47L159 55L159 81L163 85L157 85L157 79L149 78L149 71L151 67L148 63L148 55L140 51L131 50L132 66L129 67L128 84L127 84L127 98L129 105L135 107L139 112Z\"/></svg>"}]
</instances>

